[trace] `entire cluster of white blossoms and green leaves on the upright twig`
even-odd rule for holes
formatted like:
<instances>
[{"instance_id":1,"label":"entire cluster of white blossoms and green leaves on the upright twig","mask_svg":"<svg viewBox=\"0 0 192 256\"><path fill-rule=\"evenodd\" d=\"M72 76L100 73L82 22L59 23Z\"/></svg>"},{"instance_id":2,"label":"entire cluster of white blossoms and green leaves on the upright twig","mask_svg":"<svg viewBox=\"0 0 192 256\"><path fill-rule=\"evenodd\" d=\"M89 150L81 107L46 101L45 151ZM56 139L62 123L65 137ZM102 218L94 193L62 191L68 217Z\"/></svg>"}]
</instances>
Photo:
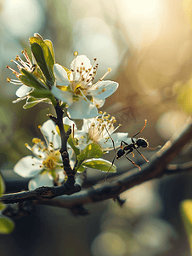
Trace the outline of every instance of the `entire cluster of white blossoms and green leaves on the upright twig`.
<instances>
[{"instance_id":1,"label":"entire cluster of white blossoms and green leaves on the upright twig","mask_svg":"<svg viewBox=\"0 0 192 256\"><path fill-rule=\"evenodd\" d=\"M16 79L7 81L19 85L16 90L20 102L26 100L23 108L32 108L37 103L46 102L54 107L59 106L67 114L63 119L64 127L71 126L72 132L67 141L67 148L71 168L75 172L83 172L87 167L99 169L103 172L116 172L116 166L110 161L102 159L102 155L118 147L121 140L127 140L127 133L116 132L120 125L116 125L115 117L101 112L98 108L104 106L105 98L112 95L119 84L104 80L111 69L94 82L99 64L97 59L93 64L86 55L74 53L71 68L61 66L55 62L54 47L50 40L44 40L39 34L30 38L31 58L24 49L24 60L16 55L12 60L18 71L7 68L14 73ZM82 129L78 130L75 120L82 119ZM59 129L53 120L46 121L40 131L44 141L33 138L32 156L28 155L19 160L14 166L14 172L22 177L31 177L29 189L36 189L42 185L53 186L65 181L66 173L59 153L61 138Z\"/></svg>"}]
</instances>

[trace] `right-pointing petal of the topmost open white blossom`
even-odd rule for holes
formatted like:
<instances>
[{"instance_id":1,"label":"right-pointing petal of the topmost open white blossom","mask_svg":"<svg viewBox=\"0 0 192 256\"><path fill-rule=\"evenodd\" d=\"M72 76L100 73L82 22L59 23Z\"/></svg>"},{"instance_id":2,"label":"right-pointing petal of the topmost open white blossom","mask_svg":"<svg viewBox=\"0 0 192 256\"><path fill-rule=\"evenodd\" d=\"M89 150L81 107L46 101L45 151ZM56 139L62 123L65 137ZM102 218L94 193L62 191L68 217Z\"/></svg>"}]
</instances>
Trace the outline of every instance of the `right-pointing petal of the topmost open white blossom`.
<instances>
[{"instance_id":1,"label":"right-pointing petal of the topmost open white blossom","mask_svg":"<svg viewBox=\"0 0 192 256\"><path fill-rule=\"evenodd\" d=\"M91 87L88 93L96 100L103 100L113 94L119 84L113 81L101 81L98 85Z\"/></svg>"}]
</instances>

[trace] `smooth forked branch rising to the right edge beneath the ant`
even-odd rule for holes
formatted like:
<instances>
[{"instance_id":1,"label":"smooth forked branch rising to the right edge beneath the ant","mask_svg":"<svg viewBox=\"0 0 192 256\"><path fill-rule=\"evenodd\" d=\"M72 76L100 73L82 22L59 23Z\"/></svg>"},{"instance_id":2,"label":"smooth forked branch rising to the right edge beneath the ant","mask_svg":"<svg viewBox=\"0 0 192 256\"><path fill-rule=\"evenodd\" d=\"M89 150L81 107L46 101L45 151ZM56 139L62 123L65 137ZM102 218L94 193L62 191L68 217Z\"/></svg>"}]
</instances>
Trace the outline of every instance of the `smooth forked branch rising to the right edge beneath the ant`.
<instances>
[{"instance_id":1,"label":"smooth forked branch rising to the right edge beneath the ant","mask_svg":"<svg viewBox=\"0 0 192 256\"><path fill-rule=\"evenodd\" d=\"M135 185L144 183L153 178L161 177L164 174L178 173L182 171L192 171L191 162L188 165L175 166L174 171L170 170L174 165L168 166L178 153L192 139L191 120L184 126L182 131L176 133L163 148L161 148L154 156L150 158L150 163L141 166L142 171L138 172L138 168L134 168L130 172L126 172L117 177L110 183L102 183L96 185L92 189L82 190L81 192L70 196L59 196L50 201L36 201L38 205L48 205L54 207L65 207L71 209L78 204L87 204L90 202L104 201L110 198L116 198L127 189L133 188ZM171 167L171 168L170 168ZM178 170L177 170L178 168ZM189 169L188 169L189 168ZM177 170L177 171L176 171Z\"/></svg>"}]
</instances>

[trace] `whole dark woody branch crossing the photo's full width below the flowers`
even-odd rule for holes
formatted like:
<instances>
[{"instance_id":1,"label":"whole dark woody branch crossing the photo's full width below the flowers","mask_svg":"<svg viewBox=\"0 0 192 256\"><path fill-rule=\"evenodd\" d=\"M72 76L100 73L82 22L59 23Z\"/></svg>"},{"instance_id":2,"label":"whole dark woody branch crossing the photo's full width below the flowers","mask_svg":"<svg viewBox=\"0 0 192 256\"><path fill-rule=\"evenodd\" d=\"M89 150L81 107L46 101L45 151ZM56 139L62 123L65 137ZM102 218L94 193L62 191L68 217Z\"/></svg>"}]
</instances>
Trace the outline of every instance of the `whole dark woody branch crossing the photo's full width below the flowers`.
<instances>
[{"instance_id":1,"label":"whole dark woody branch crossing the photo's full width below the flowers","mask_svg":"<svg viewBox=\"0 0 192 256\"><path fill-rule=\"evenodd\" d=\"M62 186L54 188L42 187L34 191L3 195L0 198L0 201L3 201L4 203L12 203L35 199L37 200L35 204L72 208L88 202L104 201L110 198L116 198L127 189L131 189L133 186L144 183L145 181L153 178L161 177L164 174L173 174L184 170L191 171L191 162L189 164L168 166L168 164L178 155L182 148L184 148L184 146L190 142L190 140L192 140L191 119L189 119L188 123L184 125L182 131L178 131L157 153L150 158L150 163L145 163L141 166L140 172L138 171L138 168L133 168L133 170L121 174L120 176L111 180L111 182L98 184L92 189L86 189L73 195L71 194L74 192L69 193L69 189L64 189L64 191L59 188ZM54 189L56 191L58 189L55 194L53 192ZM62 193L66 192L65 195L61 194L61 191ZM75 192L77 191L78 190ZM23 196L19 196L22 193ZM28 197L26 198L25 195ZM54 198L58 195L62 196ZM40 198L43 200L39 200Z\"/></svg>"}]
</instances>

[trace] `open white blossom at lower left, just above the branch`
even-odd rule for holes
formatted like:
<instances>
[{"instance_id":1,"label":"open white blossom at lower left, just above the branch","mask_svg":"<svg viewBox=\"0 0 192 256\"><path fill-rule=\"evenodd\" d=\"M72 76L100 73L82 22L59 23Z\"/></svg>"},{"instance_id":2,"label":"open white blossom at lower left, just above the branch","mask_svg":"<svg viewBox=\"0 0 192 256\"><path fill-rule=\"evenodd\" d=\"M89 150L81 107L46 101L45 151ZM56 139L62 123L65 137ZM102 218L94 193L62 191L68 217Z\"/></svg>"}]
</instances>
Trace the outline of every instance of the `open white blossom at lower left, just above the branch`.
<instances>
[{"instance_id":1,"label":"open white blossom at lower left, just above the branch","mask_svg":"<svg viewBox=\"0 0 192 256\"><path fill-rule=\"evenodd\" d=\"M60 137L56 131L56 125L48 120L41 127L45 143L41 139L33 138L33 147L25 146L31 150L33 156L27 155L14 166L14 172L22 177L33 177L29 182L29 189L37 189L41 186L53 186L54 179L59 177L59 182L65 179L63 163L59 153ZM71 151L69 152L71 156ZM71 160L71 166L74 163Z\"/></svg>"}]
</instances>

